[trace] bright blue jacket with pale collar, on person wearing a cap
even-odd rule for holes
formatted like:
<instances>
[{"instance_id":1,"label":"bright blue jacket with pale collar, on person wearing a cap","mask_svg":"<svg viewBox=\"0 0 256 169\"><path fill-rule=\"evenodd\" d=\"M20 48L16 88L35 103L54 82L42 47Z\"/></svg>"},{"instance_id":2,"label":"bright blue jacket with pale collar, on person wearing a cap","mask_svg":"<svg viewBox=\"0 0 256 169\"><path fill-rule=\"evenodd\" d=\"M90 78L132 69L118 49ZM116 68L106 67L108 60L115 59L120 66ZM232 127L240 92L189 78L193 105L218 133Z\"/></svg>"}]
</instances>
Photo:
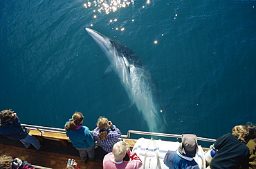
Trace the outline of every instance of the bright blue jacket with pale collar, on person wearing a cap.
<instances>
[{"instance_id":1,"label":"bright blue jacket with pale collar, on person wearing a cap","mask_svg":"<svg viewBox=\"0 0 256 169\"><path fill-rule=\"evenodd\" d=\"M172 169L199 169L198 164L192 157L186 157L179 153L179 150L176 150L176 152L169 150L163 162L167 167Z\"/></svg>"}]
</instances>

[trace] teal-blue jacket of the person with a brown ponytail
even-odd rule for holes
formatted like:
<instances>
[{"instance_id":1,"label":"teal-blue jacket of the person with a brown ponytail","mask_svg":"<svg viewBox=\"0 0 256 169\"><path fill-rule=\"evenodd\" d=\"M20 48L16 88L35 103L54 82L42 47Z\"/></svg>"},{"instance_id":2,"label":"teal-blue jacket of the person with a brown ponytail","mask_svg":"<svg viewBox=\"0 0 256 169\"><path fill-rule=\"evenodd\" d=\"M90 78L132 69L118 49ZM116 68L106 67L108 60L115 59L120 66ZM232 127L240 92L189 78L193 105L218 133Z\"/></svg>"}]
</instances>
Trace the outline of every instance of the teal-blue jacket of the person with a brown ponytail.
<instances>
[{"instance_id":1,"label":"teal-blue jacket of the person with a brown ponytail","mask_svg":"<svg viewBox=\"0 0 256 169\"><path fill-rule=\"evenodd\" d=\"M89 148L95 144L91 131L86 126L82 126L82 128L77 130L69 130L66 132L66 136L69 137L75 148Z\"/></svg>"}]
</instances>

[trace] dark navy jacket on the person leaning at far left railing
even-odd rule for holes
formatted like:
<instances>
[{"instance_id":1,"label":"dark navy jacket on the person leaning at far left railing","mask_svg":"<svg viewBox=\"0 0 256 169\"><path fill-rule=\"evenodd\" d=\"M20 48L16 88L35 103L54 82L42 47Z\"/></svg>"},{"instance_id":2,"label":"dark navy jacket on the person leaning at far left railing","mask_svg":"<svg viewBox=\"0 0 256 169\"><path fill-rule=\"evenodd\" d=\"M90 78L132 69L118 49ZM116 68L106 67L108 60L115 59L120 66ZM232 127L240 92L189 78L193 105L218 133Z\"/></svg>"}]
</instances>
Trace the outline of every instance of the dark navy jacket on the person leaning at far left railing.
<instances>
[{"instance_id":1,"label":"dark navy jacket on the person leaning at far left railing","mask_svg":"<svg viewBox=\"0 0 256 169\"><path fill-rule=\"evenodd\" d=\"M18 117L13 121L13 123L10 123L10 121L5 121L0 125L0 135L8 137L9 139L24 139L27 137L28 132L28 129L21 127Z\"/></svg>"}]
</instances>

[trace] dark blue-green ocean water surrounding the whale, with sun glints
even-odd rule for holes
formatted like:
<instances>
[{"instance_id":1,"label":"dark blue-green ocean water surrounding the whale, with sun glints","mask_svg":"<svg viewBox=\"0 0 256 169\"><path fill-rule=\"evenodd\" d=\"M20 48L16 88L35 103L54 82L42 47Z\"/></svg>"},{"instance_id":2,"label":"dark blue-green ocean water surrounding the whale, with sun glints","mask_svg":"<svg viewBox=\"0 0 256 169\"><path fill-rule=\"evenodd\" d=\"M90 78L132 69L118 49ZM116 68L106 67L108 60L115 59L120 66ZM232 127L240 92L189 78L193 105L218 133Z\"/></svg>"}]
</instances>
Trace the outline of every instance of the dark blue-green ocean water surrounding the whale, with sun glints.
<instances>
[{"instance_id":1,"label":"dark blue-green ocean water surrounding the whale, with sun glints","mask_svg":"<svg viewBox=\"0 0 256 169\"><path fill-rule=\"evenodd\" d=\"M103 2L0 1L1 110L40 126L62 128L80 111L91 130L105 116L123 134L148 131L117 74L102 79L109 61L89 27L143 61L163 132L216 139L256 123L256 1Z\"/></svg>"}]
</instances>

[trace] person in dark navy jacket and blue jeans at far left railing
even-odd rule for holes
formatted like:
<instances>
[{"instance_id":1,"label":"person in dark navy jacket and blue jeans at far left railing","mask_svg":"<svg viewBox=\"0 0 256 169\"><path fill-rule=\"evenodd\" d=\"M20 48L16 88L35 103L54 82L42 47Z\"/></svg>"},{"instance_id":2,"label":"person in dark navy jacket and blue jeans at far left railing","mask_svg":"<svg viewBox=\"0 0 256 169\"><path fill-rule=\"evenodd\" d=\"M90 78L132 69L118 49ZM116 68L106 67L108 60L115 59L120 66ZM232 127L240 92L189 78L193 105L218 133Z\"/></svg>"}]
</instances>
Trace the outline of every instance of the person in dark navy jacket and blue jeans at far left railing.
<instances>
[{"instance_id":1,"label":"person in dark navy jacket and blue jeans at far left railing","mask_svg":"<svg viewBox=\"0 0 256 169\"><path fill-rule=\"evenodd\" d=\"M41 146L37 137L30 135L29 130L21 126L16 112L12 110L3 110L0 114L0 135L9 139L19 140L26 148L32 144L37 150L46 148L46 144Z\"/></svg>"}]
</instances>

